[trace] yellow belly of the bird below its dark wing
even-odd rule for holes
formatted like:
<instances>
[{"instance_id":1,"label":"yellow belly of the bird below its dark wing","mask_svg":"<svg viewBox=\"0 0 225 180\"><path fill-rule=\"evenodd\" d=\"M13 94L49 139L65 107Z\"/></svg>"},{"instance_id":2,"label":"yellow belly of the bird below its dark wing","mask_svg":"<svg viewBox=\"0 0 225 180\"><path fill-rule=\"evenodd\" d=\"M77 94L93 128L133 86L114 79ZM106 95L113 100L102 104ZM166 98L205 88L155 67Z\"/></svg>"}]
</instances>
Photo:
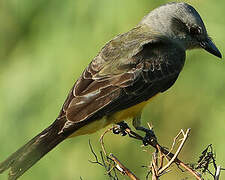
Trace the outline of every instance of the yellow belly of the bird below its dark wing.
<instances>
[{"instance_id":1,"label":"yellow belly of the bird below its dark wing","mask_svg":"<svg viewBox=\"0 0 225 180\"><path fill-rule=\"evenodd\" d=\"M137 114L139 114L143 108L152 100L149 99L147 101L143 101L139 104L136 104L134 106L131 106L127 109L118 111L110 116L104 116L103 118L93 121L89 123L88 125L80 128L75 133L73 133L70 137L80 136L84 134L91 134L96 131L98 131L101 128L106 127L107 125L111 123L118 123L127 119L133 119Z\"/></svg>"}]
</instances>

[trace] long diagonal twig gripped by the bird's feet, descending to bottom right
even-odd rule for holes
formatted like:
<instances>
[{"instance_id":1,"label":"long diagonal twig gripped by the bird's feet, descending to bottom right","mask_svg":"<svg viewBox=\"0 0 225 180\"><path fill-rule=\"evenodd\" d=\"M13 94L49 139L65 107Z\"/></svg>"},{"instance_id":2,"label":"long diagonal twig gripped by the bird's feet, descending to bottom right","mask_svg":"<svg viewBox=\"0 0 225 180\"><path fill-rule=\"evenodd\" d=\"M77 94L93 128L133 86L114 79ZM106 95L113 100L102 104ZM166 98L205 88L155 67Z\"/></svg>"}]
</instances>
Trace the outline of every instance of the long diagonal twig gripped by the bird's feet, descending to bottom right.
<instances>
[{"instance_id":1,"label":"long diagonal twig gripped by the bird's feet, descending to bottom right","mask_svg":"<svg viewBox=\"0 0 225 180\"><path fill-rule=\"evenodd\" d=\"M140 136L139 134L131 131L130 129L129 130L126 130L127 133L130 133L132 136L135 136L135 139L138 139L138 140L143 140L143 137ZM160 149L160 151L165 155L165 156L168 156L169 158L173 158L174 157L174 154L169 152L168 150L166 150L165 148L161 147L157 140L156 139L151 139L149 142L149 145L151 145L152 147L154 147L155 149ZM189 171L193 176L195 176L195 178L197 180L202 180L201 176L195 172L192 168L190 168L188 165L186 165L185 163L183 163L181 160L179 160L177 157L174 159L174 162L183 167L184 169L186 169L187 171Z\"/></svg>"}]
</instances>

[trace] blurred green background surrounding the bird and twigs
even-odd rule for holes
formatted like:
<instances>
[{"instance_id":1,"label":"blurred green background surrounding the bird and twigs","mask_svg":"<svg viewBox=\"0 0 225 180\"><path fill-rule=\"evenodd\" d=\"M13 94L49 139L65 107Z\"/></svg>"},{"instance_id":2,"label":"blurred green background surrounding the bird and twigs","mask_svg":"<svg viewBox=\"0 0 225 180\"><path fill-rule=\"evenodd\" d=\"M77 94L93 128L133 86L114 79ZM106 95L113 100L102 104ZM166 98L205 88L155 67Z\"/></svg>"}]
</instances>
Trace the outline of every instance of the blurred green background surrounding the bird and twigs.
<instances>
[{"instance_id":1,"label":"blurred green background surrounding the bird and twigs","mask_svg":"<svg viewBox=\"0 0 225 180\"><path fill-rule=\"evenodd\" d=\"M1 0L0 1L0 161L54 121L83 69L100 48L134 27L165 0ZM225 1L189 1L201 14L210 36L225 55ZM210 143L219 165L225 166L225 62L205 51L187 53L176 84L144 111L159 142L170 147L181 128L191 136L180 158L197 161ZM66 140L22 180L108 179L88 146L100 150L101 132ZM141 142L107 136L105 142L139 178L151 157ZM132 157L132 158L131 158ZM175 166L175 165L174 165ZM6 179L7 173L0 175ZM174 170L164 180L190 177ZM221 179L225 178L225 172ZM120 177L120 179L126 179Z\"/></svg>"}]
</instances>

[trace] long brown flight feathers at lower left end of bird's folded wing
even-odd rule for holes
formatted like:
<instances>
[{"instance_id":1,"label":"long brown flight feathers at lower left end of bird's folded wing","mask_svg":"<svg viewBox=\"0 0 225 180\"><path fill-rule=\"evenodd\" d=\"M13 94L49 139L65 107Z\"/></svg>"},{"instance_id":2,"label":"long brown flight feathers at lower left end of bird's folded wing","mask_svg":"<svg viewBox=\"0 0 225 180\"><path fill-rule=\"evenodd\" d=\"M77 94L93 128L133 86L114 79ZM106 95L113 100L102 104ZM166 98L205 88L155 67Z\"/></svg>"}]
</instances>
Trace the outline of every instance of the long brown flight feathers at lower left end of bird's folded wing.
<instances>
[{"instance_id":1,"label":"long brown flight feathers at lower left end of bird's folded wing","mask_svg":"<svg viewBox=\"0 0 225 180\"><path fill-rule=\"evenodd\" d=\"M121 88L126 87L134 79L134 74L127 72L121 75L115 75L113 78L103 78L98 80L82 79L76 84L73 90L73 98L66 107L66 116L68 120L80 122L100 109L107 106L121 94ZM83 91L76 91L77 86L88 84Z\"/></svg>"}]
</instances>

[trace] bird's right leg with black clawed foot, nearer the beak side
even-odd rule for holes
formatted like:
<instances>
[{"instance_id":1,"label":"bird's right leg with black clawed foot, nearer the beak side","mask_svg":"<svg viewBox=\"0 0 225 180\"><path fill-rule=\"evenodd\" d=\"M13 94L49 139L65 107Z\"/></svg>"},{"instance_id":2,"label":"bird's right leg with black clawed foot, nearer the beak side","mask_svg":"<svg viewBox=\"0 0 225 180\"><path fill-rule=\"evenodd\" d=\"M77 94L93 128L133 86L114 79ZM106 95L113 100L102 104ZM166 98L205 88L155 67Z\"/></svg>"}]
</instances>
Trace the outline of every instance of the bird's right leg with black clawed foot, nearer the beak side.
<instances>
[{"instance_id":1,"label":"bird's right leg with black clawed foot, nearer the beak side","mask_svg":"<svg viewBox=\"0 0 225 180\"><path fill-rule=\"evenodd\" d=\"M155 133L151 129L147 129L141 126L141 113L133 118L132 124L136 130L140 130L146 133L145 137L142 140L145 146L148 145L148 142L150 142L151 139L156 139Z\"/></svg>"}]
</instances>

